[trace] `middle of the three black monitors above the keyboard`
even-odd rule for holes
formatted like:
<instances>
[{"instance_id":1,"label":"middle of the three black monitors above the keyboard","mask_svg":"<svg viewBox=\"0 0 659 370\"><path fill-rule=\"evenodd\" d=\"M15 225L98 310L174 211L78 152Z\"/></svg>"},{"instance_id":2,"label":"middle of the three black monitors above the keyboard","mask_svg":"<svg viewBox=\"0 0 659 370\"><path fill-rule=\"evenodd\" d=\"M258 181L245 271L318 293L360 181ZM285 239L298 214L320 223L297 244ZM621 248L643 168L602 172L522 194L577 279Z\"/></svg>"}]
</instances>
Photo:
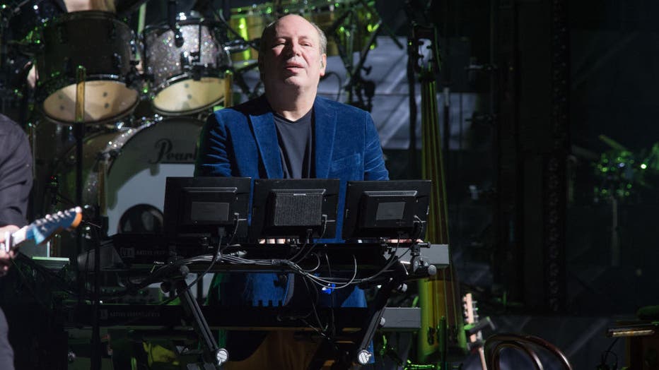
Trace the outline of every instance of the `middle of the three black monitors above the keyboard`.
<instances>
[{"instance_id":1,"label":"middle of the three black monitors above the keyboard","mask_svg":"<svg viewBox=\"0 0 659 370\"><path fill-rule=\"evenodd\" d=\"M333 238L337 179L256 179L250 239Z\"/></svg>"}]
</instances>

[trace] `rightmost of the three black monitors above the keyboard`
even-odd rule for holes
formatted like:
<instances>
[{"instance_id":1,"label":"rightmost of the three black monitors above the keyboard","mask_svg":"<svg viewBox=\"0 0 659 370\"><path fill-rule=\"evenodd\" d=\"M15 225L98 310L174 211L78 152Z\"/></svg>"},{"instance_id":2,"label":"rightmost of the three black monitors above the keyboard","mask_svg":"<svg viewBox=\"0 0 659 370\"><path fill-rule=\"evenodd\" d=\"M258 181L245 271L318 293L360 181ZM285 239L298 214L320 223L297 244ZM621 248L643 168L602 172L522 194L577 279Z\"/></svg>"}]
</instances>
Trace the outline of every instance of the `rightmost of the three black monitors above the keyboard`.
<instances>
[{"instance_id":1,"label":"rightmost of the three black monitors above the keyboard","mask_svg":"<svg viewBox=\"0 0 659 370\"><path fill-rule=\"evenodd\" d=\"M429 180L348 181L343 239L423 238L430 186Z\"/></svg>"}]
</instances>

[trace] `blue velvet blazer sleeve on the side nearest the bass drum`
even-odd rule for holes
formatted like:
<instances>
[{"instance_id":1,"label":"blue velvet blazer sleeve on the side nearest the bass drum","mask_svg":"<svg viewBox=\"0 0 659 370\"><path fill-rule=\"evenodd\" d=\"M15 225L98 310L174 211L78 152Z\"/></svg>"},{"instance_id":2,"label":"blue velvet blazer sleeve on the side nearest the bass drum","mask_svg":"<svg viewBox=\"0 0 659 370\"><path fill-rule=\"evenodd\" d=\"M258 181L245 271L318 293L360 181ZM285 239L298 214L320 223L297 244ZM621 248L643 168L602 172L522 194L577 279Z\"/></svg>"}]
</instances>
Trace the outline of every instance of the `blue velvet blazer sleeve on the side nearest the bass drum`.
<instances>
[{"instance_id":1,"label":"blue velvet blazer sleeve on the side nearest the bass drum","mask_svg":"<svg viewBox=\"0 0 659 370\"><path fill-rule=\"evenodd\" d=\"M194 176L231 177L227 129L216 112L206 119L199 134L199 151L194 166Z\"/></svg>"}]
</instances>

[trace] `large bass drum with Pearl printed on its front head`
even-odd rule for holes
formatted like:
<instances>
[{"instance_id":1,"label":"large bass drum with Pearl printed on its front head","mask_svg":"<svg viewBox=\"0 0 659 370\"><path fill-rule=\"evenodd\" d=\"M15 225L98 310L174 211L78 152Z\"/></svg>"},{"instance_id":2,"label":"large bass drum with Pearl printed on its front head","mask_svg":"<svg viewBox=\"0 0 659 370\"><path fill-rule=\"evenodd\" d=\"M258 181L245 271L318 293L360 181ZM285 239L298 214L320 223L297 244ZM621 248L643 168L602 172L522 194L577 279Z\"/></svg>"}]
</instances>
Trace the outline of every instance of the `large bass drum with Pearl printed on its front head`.
<instances>
[{"instance_id":1,"label":"large bass drum with Pearl printed on its front head","mask_svg":"<svg viewBox=\"0 0 659 370\"><path fill-rule=\"evenodd\" d=\"M203 122L189 117L144 121L135 129L96 133L83 144L83 203L106 210L108 235L163 232L165 179L194 174ZM71 148L56 167L59 202L51 202L56 209L69 207L75 198L75 153ZM58 205L62 201L66 204ZM76 255L74 237L62 237L59 244L52 256Z\"/></svg>"}]
</instances>

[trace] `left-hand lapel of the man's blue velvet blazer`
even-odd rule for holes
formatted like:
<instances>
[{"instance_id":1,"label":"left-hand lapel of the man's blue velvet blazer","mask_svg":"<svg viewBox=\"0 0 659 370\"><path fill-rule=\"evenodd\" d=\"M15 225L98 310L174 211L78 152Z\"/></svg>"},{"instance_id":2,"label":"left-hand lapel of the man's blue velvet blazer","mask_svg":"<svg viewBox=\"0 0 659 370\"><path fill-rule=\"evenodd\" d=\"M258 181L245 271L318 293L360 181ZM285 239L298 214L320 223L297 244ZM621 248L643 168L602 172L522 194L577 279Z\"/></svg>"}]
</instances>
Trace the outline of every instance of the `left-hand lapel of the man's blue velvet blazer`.
<instances>
[{"instance_id":1,"label":"left-hand lapel of the man's blue velvet blazer","mask_svg":"<svg viewBox=\"0 0 659 370\"><path fill-rule=\"evenodd\" d=\"M259 147L259 154L263 161L267 178L281 179L284 177L284 170L281 169L277 131L274 126L272 112L258 115L250 114L250 121L252 121L254 136Z\"/></svg>"}]
</instances>

